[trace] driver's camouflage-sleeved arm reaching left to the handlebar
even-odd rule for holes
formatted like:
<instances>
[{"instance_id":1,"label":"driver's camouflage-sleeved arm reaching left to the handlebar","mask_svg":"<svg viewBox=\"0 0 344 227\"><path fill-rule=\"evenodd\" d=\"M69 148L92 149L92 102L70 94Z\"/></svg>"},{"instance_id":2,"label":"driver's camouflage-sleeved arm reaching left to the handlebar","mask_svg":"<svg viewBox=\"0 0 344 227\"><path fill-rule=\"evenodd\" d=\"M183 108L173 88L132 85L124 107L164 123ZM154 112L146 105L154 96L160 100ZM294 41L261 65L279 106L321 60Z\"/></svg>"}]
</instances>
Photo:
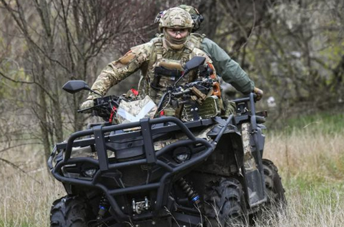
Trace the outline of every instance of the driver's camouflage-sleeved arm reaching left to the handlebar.
<instances>
[{"instance_id":1,"label":"driver's camouflage-sleeved arm reaching left to the handlebar","mask_svg":"<svg viewBox=\"0 0 344 227\"><path fill-rule=\"evenodd\" d=\"M127 76L136 72L143 63L149 61L148 50L150 47L150 43L133 47L117 61L109 63L102 72L100 72L91 89L103 96L107 94L107 91L109 91L112 86L120 83L121 80L124 80ZM97 95L90 93L87 100L94 98L98 98Z\"/></svg>"}]
</instances>

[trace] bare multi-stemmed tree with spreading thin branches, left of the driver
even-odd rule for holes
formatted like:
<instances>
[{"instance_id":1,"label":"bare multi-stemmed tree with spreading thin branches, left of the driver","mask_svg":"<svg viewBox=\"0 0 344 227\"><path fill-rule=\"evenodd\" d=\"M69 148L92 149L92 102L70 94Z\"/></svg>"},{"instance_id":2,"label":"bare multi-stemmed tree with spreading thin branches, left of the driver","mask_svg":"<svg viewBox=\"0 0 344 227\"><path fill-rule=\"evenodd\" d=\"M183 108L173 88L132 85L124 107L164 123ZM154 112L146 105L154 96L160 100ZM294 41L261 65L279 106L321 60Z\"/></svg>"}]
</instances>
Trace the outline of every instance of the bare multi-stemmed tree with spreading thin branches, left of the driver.
<instances>
[{"instance_id":1,"label":"bare multi-stemmed tree with spreading thin branches, left of the driver","mask_svg":"<svg viewBox=\"0 0 344 227\"><path fill-rule=\"evenodd\" d=\"M63 140L67 129L63 119L73 122L74 131L85 124L85 116L77 115L76 109L86 94L65 96L61 93L63 83L69 79L94 80L88 72L107 48L113 50L124 41L142 43L149 35L149 24L144 22L147 13L142 13L147 5L141 1L0 2L3 12L17 26L17 38L25 42L20 61L26 76L17 80L0 73L12 83L25 85L23 89L30 89L22 101L29 104L28 109L39 122L41 142L48 155L52 144Z\"/></svg>"}]
</instances>

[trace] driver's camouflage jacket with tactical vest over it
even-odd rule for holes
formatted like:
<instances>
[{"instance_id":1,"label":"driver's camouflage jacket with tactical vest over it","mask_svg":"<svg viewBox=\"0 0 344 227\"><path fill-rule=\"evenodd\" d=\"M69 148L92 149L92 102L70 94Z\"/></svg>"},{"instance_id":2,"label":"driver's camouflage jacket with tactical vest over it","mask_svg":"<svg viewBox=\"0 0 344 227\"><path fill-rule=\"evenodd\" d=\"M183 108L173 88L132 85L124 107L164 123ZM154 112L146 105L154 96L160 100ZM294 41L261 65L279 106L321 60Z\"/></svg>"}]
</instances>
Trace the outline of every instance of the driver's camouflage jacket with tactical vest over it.
<instances>
[{"instance_id":1,"label":"driver's camouflage jacket with tactical vest over it","mask_svg":"<svg viewBox=\"0 0 344 227\"><path fill-rule=\"evenodd\" d=\"M139 94L142 98L149 95L156 103L164 93L164 88L172 85L176 77L162 75L160 81L158 81L160 90L153 89L150 84L154 80L155 68L162 66L182 72L182 65L193 56L204 56L206 57L205 64L211 63L211 59L190 41L187 41L181 50L172 50L166 45L164 38L155 38L149 43L132 47L125 56L109 63L92 85L92 89L105 95L112 86L140 69L142 78L139 85ZM196 77L195 72L191 72L180 80L180 84L191 82ZM94 98L94 95L90 94L87 100Z\"/></svg>"}]
</instances>

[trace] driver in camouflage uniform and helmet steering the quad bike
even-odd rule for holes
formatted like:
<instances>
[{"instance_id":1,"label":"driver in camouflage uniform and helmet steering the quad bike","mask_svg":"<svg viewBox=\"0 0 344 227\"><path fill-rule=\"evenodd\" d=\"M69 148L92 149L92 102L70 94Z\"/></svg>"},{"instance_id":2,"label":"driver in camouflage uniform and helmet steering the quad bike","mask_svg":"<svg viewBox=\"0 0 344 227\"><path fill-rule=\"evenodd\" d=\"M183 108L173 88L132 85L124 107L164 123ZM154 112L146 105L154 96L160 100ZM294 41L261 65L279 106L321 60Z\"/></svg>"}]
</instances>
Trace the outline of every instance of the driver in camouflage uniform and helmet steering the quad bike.
<instances>
[{"instance_id":1,"label":"driver in camouflage uniform and helmet steering the quad bike","mask_svg":"<svg viewBox=\"0 0 344 227\"><path fill-rule=\"evenodd\" d=\"M182 8L166 10L159 22L159 30L164 36L157 37L149 43L132 47L125 56L109 63L92 85L92 89L105 95L110 87L141 69L140 97L143 98L148 95L155 103L158 103L166 87L173 85L178 76L181 75L182 65L186 61L189 61L193 56L204 56L206 58L204 64L211 63L211 59L189 41L192 28L193 19L189 12ZM167 70L168 72L166 72L164 69L170 71ZM169 72L173 72L174 75ZM160 74L160 76L157 77L156 74ZM157 81L156 78L159 80ZM197 74L190 72L180 80L179 84L192 82L196 78ZM99 96L90 93L80 108L92 107L94 98L99 98ZM164 112L165 115L173 116L175 109L166 108Z\"/></svg>"}]
</instances>

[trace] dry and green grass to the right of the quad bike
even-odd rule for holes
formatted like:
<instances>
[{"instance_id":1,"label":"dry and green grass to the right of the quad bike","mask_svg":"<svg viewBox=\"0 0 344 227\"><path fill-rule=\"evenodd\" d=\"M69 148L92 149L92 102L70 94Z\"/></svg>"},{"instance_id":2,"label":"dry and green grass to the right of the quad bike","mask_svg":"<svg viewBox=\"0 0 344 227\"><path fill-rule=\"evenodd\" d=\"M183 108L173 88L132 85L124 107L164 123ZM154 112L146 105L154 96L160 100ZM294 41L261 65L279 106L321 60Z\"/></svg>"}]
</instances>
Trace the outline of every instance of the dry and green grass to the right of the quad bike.
<instances>
[{"instance_id":1,"label":"dry and green grass to the right of the quad bike","mask_svg":"<svg viewBox=\"0 0 344 227\"><path fill-rule=\"evenodd\" d=\"M264 156L279 167L288 208L257 227L337 227L344 223L344 131L302 127L270 133Z\"/></svg>"}]
</instances>

